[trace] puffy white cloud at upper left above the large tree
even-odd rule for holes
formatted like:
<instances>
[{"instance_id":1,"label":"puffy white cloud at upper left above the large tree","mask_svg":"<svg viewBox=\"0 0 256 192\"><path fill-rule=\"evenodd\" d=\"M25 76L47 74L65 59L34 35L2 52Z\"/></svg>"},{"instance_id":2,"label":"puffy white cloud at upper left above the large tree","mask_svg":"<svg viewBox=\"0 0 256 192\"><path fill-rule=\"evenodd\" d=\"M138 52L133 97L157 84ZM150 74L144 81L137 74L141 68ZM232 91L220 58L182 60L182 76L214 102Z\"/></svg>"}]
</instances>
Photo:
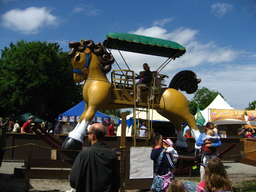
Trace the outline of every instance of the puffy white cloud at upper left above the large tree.
<instances>
[{"instance_id":1,"label":"puffy white cloud at upper left above the large tree","mask_svg":"<svg viewBox=\"0 0 256 192\"><path fill-rule=\"evenodd\" d=\"M1 15L2 24L6 28L21 31L24 34L36 34L44 26L57 26L58 17L50 14L46 7L29 7L25 10L12 9Z\"/></svg>"}]
</instances>

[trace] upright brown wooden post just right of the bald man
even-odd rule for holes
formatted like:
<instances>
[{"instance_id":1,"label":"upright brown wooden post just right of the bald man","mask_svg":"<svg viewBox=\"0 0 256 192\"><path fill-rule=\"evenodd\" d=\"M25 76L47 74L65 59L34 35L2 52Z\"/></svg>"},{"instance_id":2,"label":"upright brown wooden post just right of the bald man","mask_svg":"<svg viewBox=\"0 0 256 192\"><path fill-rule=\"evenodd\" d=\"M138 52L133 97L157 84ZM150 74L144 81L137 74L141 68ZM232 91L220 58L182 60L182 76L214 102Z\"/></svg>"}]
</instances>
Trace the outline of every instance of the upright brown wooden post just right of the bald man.
<instances>
[{"instance_id":1,"label":"upright brown wooden post just right of the bald man","mask_svg":"<svg viewBox=\"0 0 256 192\"><path fill-rule=\"evenodd\" d=\"M125 190L125 131L126 131L126 112L122 112L122 124L121 124L121 155L120 155L120 178L121 187L120 192Z\"/></svg>"}]
</instances>

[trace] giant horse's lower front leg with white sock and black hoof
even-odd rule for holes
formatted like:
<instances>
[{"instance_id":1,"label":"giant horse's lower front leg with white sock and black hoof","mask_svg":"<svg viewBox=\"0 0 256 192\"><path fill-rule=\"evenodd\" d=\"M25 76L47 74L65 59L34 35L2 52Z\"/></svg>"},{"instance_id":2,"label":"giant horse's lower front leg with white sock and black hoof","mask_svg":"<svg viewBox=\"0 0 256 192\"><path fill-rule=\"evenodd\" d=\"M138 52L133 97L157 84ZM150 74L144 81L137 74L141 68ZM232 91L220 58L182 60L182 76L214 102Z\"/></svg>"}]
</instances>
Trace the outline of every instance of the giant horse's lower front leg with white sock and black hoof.
<instances>
[{"instance_id":1,"label":"giant horse's lower front leg with white sock and black hoof","mask_svg":"<svg viewBox=\"0 0 256 192\"><path fill-rule=\"evenodd\" d=\"M84 113L84 118L82 119L80 125L68 134L68 138L64 141L62 148L81 150L83 146L83 138L86 135L87 127L91 123L97 108L94 106L89 106Z\"/></svg>"}]
</instances>

